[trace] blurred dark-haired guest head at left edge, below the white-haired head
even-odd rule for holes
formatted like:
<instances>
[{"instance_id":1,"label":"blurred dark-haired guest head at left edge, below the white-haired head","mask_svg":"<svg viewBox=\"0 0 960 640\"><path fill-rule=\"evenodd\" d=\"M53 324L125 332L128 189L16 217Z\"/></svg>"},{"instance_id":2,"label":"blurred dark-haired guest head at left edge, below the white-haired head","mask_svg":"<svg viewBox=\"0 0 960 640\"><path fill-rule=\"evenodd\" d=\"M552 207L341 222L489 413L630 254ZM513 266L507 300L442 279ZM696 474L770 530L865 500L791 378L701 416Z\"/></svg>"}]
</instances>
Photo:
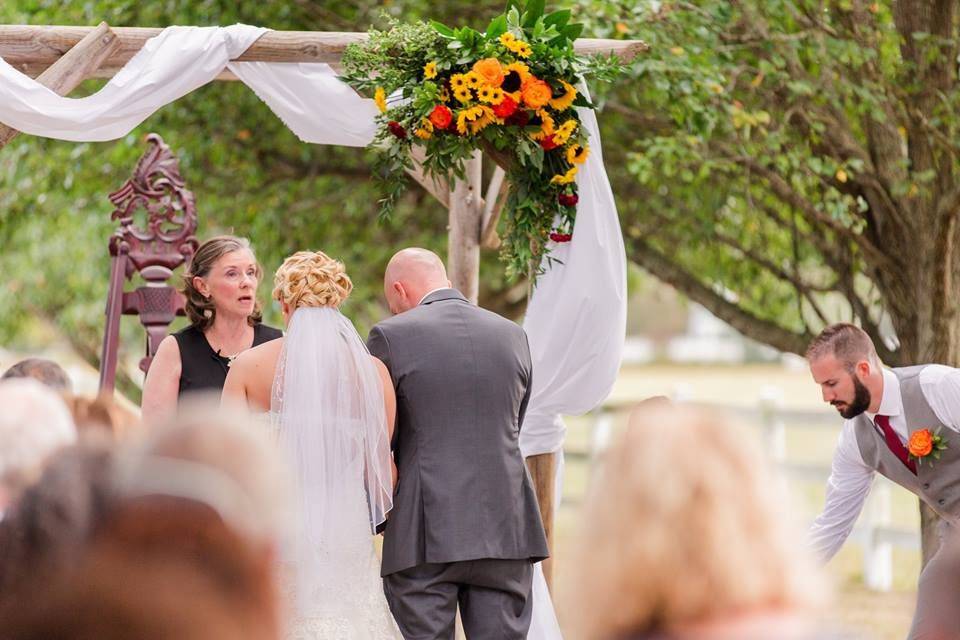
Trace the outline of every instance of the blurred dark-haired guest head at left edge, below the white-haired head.
<instances>
[{"instance_id":1,"label":"blurred dark-haired guest head at left edge, below the white-haired head","mask_svg":"<svg viewBox=\"0 0 960 640\"><path fill-rule=\"evenodd\" d=\"M73 568L112 496L113 448L88 437L60 450L0 522L0 602Z\"/></svg>"}]
</instances>

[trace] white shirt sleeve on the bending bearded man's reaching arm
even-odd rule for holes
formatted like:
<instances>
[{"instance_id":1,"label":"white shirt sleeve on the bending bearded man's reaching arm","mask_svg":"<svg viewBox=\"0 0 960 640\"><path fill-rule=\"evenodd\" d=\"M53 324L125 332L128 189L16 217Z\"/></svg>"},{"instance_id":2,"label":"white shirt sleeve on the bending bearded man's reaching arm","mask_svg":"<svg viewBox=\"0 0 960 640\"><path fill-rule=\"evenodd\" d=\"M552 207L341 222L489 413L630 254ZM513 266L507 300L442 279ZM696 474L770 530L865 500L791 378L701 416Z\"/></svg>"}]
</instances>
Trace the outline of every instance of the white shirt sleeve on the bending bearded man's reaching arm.
<instances>
[{"instance_id":1,"label":"white shirt sleeve on the bending bearded man's reaching arm","mask_svg":"<svg viewBox=\"0 0 960 640\"><path fill-rule=\"evenodd\" d=\"M860 455L853 423L847 421L833 454L826 503L809 533L810 547L824 562L840 550L853 530L870 493L873 476L874 470Z\"/></svg>"}]
</instances>

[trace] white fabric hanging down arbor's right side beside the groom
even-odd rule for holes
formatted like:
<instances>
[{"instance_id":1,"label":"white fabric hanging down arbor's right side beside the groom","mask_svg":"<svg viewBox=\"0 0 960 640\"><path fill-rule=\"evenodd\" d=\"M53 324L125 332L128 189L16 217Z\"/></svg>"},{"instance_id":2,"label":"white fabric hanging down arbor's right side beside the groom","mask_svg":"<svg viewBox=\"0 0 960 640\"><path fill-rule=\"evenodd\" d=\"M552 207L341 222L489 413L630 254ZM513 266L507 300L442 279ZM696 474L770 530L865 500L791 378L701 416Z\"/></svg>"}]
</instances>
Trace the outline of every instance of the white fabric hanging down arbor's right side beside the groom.
<instances>
[{"instance_id":1,"label":"white fabric hanging down arbor's right side beside the groom","mask_svg":"<svg viewBox=\"0 0 960 640\"><path fill-rule=\"evenodd\" d=\"M581 88L581 90L583 90ZM525 456L559 451L561 415L599 405L613 388L627 326L627 260L596 114L580 109L590 155L577 176L573 241L555 244L537 280L523 328L533 356L533 393L520 433Z\"/></svg>"}]
</instances>

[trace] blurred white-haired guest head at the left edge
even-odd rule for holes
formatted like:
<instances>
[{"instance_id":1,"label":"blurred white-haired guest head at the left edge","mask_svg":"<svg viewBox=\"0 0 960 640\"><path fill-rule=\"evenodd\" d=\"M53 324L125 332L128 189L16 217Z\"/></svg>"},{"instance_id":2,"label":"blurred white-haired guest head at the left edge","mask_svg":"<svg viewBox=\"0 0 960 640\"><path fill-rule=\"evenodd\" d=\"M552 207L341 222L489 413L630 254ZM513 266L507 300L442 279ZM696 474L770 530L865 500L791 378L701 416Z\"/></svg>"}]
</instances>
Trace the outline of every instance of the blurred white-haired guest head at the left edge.
<instances>
[{"instance_id":1,"label":"blurred white-haired guest head at the left edge","mask_svg":"<svg viewBox=\"0 0 960 640\"><path fill-rule=\"evenodd\" d=\"M61 397L30 378L0 382L0 509L33 483L48 458L76 441Z\"/></svg>"}]
</instances>

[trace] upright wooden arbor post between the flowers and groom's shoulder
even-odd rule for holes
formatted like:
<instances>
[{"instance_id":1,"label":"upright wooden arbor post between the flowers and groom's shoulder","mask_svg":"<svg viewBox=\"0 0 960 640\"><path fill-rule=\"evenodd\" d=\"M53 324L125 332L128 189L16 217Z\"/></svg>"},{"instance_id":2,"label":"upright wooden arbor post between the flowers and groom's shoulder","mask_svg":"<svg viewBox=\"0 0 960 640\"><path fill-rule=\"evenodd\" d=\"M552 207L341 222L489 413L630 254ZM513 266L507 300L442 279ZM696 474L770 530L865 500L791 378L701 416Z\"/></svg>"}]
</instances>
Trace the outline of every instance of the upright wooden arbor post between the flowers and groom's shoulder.
<instances>
[{"instance_id":1,"label":"upright wooden arbor post between the flowers and groom's shoulder","mask_svg":"<svg viewBox=\"0 0 960 640\"><path fill-rule=\"evenodd\" d=\"M450 191L450 225L447 242L447 275L470 302L480 292L480 197L483 156L475 151L466 162L466 180L457 180Z\"/></svg>"}]
</instances>

